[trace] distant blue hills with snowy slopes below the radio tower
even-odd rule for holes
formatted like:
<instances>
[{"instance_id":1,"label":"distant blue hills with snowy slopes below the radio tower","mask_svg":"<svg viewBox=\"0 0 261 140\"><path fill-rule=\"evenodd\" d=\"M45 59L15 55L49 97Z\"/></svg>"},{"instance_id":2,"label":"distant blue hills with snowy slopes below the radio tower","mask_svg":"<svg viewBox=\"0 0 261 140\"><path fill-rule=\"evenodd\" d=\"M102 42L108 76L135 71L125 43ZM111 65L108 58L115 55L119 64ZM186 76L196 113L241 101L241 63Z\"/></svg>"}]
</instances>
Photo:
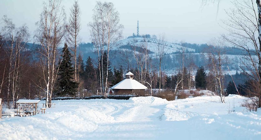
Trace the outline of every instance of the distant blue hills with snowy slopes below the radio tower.
<instances>
[{"instance_id":1,"label":"distant blue hills with snowy slopes below the radio tower","mask_svg":"<svg viewBox=\"0 0 261 140\"><path fill-rule=\"evenodd\" d=\"M150 37L150 36L149 36ZM156 65L156 52L157 52L157 41L154 38L146 38L148 53L152 58L153 63ZM113 47L110 52L110 62L112 67L119 68L120 65L125 67L126 62L124 62L124 57L122 52L129 51L132 54L131 60L132 68L136 67L136 60L133 55L133 46L138 46L136 51L141 52L141 46L144 45L144 37L128 37L126 39L117 42L117 46ZM166 54L162 60L162 69L172 73L180 68L180 60L182 58L182 51L184 50L185 59L189 59L195 63L196 66L207 66L209 63L208 51L209 46L207 44L191 44L191 43L172 43L166 42ZM28 43L28 49L34 50L38 47L38 44ZM97 65L97 53L96 48L92 43L81 43L78 47L78 53L81 53L84 62L90 56L93 58L94 64ZM225 54L222 58L226 59L226 64L223 65L224 70L227 70L227 66L231 71L240 70L239 67L244 67L241 58L243 58L244 52L238 49L233 49L230 47L224 48ZM37 59L37 58L34 58ZM247 63L244 61L244 63ZM227 72L226 72L227 73Z\"/></svg>"}]
</instances>

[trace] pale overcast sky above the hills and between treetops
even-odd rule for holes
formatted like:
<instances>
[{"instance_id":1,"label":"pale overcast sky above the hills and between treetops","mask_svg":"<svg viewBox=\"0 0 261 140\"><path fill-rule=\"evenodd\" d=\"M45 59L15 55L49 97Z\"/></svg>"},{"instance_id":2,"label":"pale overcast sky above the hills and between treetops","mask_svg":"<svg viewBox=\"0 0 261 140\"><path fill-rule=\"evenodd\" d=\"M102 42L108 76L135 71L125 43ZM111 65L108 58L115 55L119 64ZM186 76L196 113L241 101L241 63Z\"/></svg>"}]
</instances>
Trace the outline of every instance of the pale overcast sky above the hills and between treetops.
<instances>
[{"instance_id":1,"label":"pale overcast sky above the hills and between treetops","mask_svg":"<svg viewBox=\"0 0 261 140\"><path fill-rule=\"evenodd\" d=\"M107 0L106 0L107 1ZM36 29L35 22L40 18L44 0L1 0L0 17L7 15L16 26L24 23L31 36ZM73 0L63 0L62 5L69 15ZM201 0L108 0L113 2L120 13L120 23L124 25L123 36L136 34L139 20L140 34L165 33L170 42L207 43L226 31L220 26L226 20L224 9L233 7L229 0L201 6ZM95 0L79 0L81 8L83 42L90 42L87 24L91 21ZM33 42L31 40L30 42Z\"/></svg>"}]
</instances>

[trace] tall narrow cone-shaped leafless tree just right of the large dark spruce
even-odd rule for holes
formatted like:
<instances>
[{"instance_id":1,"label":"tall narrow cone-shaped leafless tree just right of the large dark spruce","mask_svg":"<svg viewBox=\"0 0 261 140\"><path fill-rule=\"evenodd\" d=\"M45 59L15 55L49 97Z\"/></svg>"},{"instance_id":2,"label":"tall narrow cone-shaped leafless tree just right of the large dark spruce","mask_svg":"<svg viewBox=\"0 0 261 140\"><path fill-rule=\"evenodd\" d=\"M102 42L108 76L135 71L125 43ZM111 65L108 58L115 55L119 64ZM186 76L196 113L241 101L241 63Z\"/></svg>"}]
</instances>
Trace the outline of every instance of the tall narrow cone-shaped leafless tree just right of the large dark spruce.
<instances>
[{"instance_id":1,"label":"tall narrow cone-shaped leafless tree just right of the large dark spruce","mask_svg":"<svg viewBox=\"0 0 261 140\"><path fill-rule=\"evenodd\" d=\"M80 15L81 11L79 8L78 1L74 1L74 4L72 8L70 9L70 17L69 17L69 25L67 26L68 35L66 37L67 42L70 47L73 47L72 50L74 52L74 80L75 82L79 82L79 79L77 79L77 64L76 64L76 58L77 58L77 46L81 42L81 38L79 36L79 32L81 30L81 20ZM78 66L79 67L79 66Z\"/></svg>"}]
</instances>

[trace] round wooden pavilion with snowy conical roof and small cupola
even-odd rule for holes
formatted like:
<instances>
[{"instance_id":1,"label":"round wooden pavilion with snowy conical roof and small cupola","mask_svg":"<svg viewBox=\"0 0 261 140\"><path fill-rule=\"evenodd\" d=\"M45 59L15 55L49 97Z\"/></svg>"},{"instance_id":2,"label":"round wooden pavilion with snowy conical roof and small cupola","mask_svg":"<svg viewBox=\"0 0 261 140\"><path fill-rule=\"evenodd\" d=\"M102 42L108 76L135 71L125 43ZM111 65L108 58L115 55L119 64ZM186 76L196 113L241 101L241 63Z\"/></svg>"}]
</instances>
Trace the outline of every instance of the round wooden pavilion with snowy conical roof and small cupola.
<instances>
[{"instance_id":1,"label":"round wooden pavilion with snowy conical roof and small cupola","mask_svg":"<svg viewBox=\"0 0 261 140\"><path fill-rule=\"evenodd\" d=\"M135 95L144 95L146 86L134 80L134 74L128 72L125 74L126 79L120 81L115 86L111 87L114 90L115 95L124 95L124 94L135 94Z\"/></svg>"}]
</instances>

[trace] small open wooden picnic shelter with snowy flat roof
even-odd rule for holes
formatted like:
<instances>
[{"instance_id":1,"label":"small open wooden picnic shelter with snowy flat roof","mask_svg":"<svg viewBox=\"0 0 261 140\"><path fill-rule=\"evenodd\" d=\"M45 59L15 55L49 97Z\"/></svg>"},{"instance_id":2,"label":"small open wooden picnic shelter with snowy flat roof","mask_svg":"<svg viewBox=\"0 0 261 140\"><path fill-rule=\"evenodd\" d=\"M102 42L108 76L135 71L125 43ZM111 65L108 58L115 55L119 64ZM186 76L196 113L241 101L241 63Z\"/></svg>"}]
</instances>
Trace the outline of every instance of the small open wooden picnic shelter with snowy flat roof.
<instances>
[{"instance_id":1,"label":"small open wooden picnic shelter with snowy flat roof","mask_svg":"<svg viewBox=\"0 0 261 140\"><path fill-rule=\"evenodd\" d=\"M37 111L37 104L40 100L24 100L19 99L16 102L17 116L22 115L35 115Z\"/></svg>"}]
</instances>

